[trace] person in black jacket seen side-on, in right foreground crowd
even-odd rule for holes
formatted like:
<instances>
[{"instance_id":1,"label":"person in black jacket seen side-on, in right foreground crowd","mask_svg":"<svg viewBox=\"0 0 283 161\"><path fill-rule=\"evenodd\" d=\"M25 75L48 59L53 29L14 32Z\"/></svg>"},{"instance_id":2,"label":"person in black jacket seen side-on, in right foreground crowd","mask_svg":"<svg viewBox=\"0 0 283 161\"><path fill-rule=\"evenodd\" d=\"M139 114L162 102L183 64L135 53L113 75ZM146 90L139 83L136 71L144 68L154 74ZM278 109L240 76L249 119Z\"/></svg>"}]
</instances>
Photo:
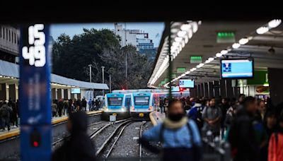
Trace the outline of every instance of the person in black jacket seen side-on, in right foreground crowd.
<instances>
[{"instance_id":1,"label":"person in black jacket seen side-on, in right foreground crowd","mask_svg":"<svg viewBox=\"0 0 283 161\"><path fill-rule=\"evenodd\" d=\"M254 97L243 100L243 108L238 109L236 118L228 131L228 141L231 144L231 153L234 161L258 161L260 145L253 127L253 118L257 111Z\"/></svg>"}]
</instances>

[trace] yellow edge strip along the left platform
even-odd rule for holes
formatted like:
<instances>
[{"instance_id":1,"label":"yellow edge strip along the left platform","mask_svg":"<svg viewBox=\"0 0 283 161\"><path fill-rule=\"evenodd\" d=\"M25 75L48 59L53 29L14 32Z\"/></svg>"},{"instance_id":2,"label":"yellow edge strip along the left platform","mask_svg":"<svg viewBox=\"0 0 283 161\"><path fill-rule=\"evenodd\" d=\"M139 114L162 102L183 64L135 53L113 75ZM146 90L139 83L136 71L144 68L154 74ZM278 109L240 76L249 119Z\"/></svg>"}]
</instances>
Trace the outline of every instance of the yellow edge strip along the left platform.
<instances>
[{"instance_id":1,"label":"yellow edge strip along the left platform","mask_svg":"<svg viewBox=\"0 0 283 161\"><path fill-rule=\"evenodd\" d=\"M93 111L93 112L86 112L88 115L89 114L98 114L98 113L101 113L103 111ZM60 122L63 122L63 121L67 121L68 117L61 117L61 118L54 118L52 119L52 124L59 124ZM6 138L11 138L11 137L14 137L14 136L18 136L20 135L20 129L16 129L15 131L11 131L11 132L8 132L8 133L2 133L0 134L0 141L6 139Z\"/></svg>"}]
</instances>

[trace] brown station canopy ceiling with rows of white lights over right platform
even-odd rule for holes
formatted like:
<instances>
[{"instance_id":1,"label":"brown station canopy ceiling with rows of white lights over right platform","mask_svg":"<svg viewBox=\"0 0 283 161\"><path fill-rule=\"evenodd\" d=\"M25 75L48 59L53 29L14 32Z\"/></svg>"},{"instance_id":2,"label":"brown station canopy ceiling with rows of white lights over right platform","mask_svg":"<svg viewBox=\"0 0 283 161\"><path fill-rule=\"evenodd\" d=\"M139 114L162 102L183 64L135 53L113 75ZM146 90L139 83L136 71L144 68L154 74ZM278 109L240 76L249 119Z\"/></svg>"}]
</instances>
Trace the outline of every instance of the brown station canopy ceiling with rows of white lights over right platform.
<instances>
[{"instance_id":1,"label":"brown station canopy ceiling with rows of white lights over right platform","mask_svg":"<svg viewBox=\"0 0 283 161\"><path fill-rule=\"evenodd\" d=\"M227 56L251 57L255 70L283 68L283 25L281 20L271 21L185 21L166 25L148 87L167 87L170 81L178 85L180 78L195 79L196 84L219 81L220 59ZM172 80L168 79L169 30ZM194 64L192 59L199 62Z\"/></svg>"}]
</instances>

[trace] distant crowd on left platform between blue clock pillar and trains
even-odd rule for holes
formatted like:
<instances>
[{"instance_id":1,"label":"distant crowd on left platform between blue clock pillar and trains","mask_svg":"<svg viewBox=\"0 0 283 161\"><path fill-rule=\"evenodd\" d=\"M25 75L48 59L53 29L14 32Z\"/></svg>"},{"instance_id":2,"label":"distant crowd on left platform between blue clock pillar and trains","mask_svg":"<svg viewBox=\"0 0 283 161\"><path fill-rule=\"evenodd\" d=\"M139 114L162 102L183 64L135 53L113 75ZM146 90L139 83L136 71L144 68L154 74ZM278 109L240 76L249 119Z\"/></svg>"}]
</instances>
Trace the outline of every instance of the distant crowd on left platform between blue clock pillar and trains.
<instances>
[{"instance_id":1,"label":"distant crowd on left platform between blue clock pillar and trains","mask_svg":"<svg viewBox=\"0 0 283 161\"><path fill-rule=\"evenodd\" d=\"M93 111L101 109L104 105L104 101L101 99L86 100L85 97L74 100L60 99L53 100L51 104L52 117L62 117L62 115L70 115L71 112L77 111Z\"/></svg>"}]
</instances>

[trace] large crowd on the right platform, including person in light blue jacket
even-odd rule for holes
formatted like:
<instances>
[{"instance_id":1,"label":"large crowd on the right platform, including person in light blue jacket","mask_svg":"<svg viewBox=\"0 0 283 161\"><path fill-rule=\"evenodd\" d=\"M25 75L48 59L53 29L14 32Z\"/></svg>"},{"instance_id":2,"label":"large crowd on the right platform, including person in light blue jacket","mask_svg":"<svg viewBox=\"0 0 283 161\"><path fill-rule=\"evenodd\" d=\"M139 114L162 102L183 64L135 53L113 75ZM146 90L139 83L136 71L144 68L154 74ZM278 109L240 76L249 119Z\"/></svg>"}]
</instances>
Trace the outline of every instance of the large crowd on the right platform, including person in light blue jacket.
<instances>
[{"instance_id":1,"label":"large crowd on the right platform, including person in light blue jacket","mask_svg":"<svg viewBox=\"0 0 283 161\"><path fill-rule=\"evenodd\" d=\"M163 154L164 160L172 158L171 155L175 158L181 155L183 157L179 156L178 160L188 160L185 154L200 154L195 153L196 148L192 145L200 145L199 136L208 135L230 143L233 160L283 160L282 104L275 107L268 97L256 99L242 94L238 100L183 97L166 106L164 102L167 101L161 98L159 101L161 112L166 112L166 119L161 125L146 131L141 138L141 143L154 152L158 150L149 141L161 141L164 151L173 148L170 156ZM183 109L177 110L178 114L176 106ZM185 122L191 124L188 131L184 130ZM190 135L190 131L195 136ZM188 141L190 137L192 141Z\"/></svg>"}]
</instances>

